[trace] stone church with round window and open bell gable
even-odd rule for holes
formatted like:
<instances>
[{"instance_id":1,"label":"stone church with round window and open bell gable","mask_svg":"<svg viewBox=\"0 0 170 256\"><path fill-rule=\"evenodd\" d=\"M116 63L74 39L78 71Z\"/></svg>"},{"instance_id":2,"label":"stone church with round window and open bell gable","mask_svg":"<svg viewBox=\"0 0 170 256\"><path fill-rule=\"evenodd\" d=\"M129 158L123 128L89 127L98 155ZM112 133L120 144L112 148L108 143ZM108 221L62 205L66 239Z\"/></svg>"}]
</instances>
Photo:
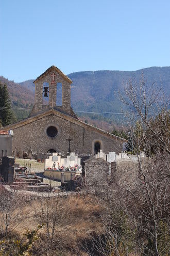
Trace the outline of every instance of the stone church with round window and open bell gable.
<instances>
[{"instance_id":1,"label":"stone church with round window and open bell gable","mask_svg":"<svg viewBox=\"0 0 170 256\"><path fill-rule=\"evenodd\" d=\"M72 81L57 67L48 68L33 83L35 105L29 117L3 127L3 130L13 130L13 150L63 154L72 151L80 155L94 155L99 150L122 151L122 138L78 119L71 107ZM58 83L62 84L61 106L56 102ZM43 104L44 97L48 105Z\"/></svg>"}]
</instances>

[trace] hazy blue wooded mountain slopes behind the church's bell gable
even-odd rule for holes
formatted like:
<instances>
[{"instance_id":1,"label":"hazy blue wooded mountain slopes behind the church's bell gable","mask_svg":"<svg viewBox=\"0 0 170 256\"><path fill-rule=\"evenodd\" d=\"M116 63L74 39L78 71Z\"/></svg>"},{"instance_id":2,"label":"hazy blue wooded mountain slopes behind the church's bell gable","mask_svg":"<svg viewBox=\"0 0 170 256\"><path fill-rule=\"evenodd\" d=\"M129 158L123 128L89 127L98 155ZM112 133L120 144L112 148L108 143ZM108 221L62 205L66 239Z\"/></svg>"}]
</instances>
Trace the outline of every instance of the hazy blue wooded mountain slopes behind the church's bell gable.
<instances>
[{"instance_id":1,"label":"hazy blue wooded mountain slopes behind the church's bell gable","mask_svg":"<svg viewBox=\"0 0 170 256\"><path fill-rule=\"evenodd\" d=\"M161 85L166 95L169 95L170 88L170 67L152 67L144 69L148 82L156 82ZM141 70L137 71L84 71L71 73L68 76L72 79L71 104L75 111L95 112L120 112L121 104L115 98L115 91L122 88L122 82L135 75L137 79ZM37 74L40 75L40 74ZM8 85L11 100L14 106L31 106L34 101L35 85L33 79L20 84L8 81L0 77ZM57 99L61 103L61 88L57 91ZM18 105L17 105L18 104ZM86 115L92 120L104 120L112 123L117 122L115 115Z\"/></svg>"}]
</instances>

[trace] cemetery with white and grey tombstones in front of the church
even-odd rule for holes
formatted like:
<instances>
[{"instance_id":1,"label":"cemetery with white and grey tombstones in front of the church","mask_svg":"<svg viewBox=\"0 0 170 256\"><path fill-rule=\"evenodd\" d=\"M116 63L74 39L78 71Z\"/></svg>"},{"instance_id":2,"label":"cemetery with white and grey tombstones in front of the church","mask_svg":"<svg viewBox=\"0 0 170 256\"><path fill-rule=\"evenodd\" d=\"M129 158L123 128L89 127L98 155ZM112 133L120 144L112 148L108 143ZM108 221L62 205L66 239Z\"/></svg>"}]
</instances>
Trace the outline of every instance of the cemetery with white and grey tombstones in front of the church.
<instances>
[{"instance_id":1,"label":"cemetery with white and grey tombstones in front of the church","mask_svg":"<svg viewBox=\"0 0 170 256\"><path fill-rule=\"evenodd\" d=\"M37 192L52 192L56 189L78 191L82 183L93 187L97 181L105 184L108 177L111 177L116 169L116 163L120 159L133 162L138 161L137 156L128 155L124 152L108 154L98 149L93 155L78 155L71 152L28 152L14 148L12 152L13 131L1 131L1 159L0 173L5 184L10 184L13 189L25 189ZM145 156L141 153L141 156ZM18 164L15 159L24 159L24 163ZM31 170L31 165L41 165L40 175L36 169ZM47 182L43 182L43 177ZM51 181L58 181L60 186L52 186ZM85 184L84 183L84 184Z\"/></svg>"}]
</instances>

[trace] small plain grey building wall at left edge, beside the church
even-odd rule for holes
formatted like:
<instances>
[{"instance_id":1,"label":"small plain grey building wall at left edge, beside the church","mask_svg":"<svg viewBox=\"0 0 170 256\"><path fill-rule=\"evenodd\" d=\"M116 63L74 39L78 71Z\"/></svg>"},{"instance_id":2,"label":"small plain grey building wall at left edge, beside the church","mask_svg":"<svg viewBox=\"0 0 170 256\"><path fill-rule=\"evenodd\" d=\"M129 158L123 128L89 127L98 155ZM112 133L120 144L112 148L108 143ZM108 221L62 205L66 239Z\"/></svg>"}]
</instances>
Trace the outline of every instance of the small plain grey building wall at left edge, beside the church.
<instances>
[{"instance_id":1,"label":"small plain grey building wall at left edge, beside the church","mask_svg":"<svg viewBox=\"0 0 170 256\"><path fill-rule=\"evenodd\" d=\"M4 150L4 156L12 156L12 136L11 135L0 135L0 157L2 157L2 150Z\"/></svg>"}]
</instances>

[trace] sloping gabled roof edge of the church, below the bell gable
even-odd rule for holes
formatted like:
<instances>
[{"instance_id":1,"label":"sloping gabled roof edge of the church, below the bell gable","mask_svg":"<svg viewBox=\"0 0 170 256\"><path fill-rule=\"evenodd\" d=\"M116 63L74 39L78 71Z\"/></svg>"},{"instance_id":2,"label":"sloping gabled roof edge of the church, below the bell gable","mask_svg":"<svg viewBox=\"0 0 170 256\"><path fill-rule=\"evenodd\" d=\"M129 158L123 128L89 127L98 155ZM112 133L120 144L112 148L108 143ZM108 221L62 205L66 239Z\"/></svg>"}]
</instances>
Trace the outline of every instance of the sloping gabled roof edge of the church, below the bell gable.
<instances>
[{"instance_id":1,"label":"sloping gabled roof edge of the church, below the bell gable","mask_svg":"<svg viewBox=\"0 0 170 256\"><path fill-rule=\"evenodd\" d=\"M70 122L72 122L72 123L74 123L74 124L76 124L76 125L79 125L79 126L81 126L81 127L88 128L88 129L90 129L90 130L93 130L94 132L98 132L98 133L100 133L100 134L102 134L102 135L104 135L104 136L106 136L106 137L109 137L109 138L112 138L112 139L117 139L117 140L120 140L120 141L122 141L122 142L126 142L126 141L127 141L127 140L125 140L125 139L123 139L123 138L121 138L121 137L118 137L118 136L116 136L116 135L113 135L113 134L111 134L111 133L108 133L108 132L106 132L106 131L104 131L104 130L101 130L101 129L97 128L97 127L94 127L94 126L92 126L92 125L90 125L90 124L88 124L88 123L84 123L84 122L82 122L82 121L80 121L80 120L78 120L78 119L76 119L76 118L74 118L74 117L71 117L71 116L69 116L69 115L66 115L66 114L64 114L64 113L62 113L62 112L60 112L60 111L58 111L58 110L56 110L56 109L53 109L53 108L50 109L50 110L48 110L48 111L45 111L45 112L43 112L43 113L39 113L39 114L36 115L36 116L32 116L32 117L23 119L23 120L21 120L21 121L19 121L19 122L17 122L17 123L14 123L14 124L10 124L10 125L8 125L8 126L5 126L5 127L3 127L1 130L7 130L7 129L12 129L12 130L14 130L14 129L18 128L18 127L24 126L24 125L26 125L26 124L28 124L28 123L31 123L31 122L35 122L35 121L37 121L37 120L39 120L39 119L42 119L42 118L44 118L44 117L46 117L46 116L50 116L50 115L55 115L55 116L58 116L58 117L60 117L60 118L64 118L64 119L67 120L67 121L70 121Z\"/></svg>"}]
</instances>

